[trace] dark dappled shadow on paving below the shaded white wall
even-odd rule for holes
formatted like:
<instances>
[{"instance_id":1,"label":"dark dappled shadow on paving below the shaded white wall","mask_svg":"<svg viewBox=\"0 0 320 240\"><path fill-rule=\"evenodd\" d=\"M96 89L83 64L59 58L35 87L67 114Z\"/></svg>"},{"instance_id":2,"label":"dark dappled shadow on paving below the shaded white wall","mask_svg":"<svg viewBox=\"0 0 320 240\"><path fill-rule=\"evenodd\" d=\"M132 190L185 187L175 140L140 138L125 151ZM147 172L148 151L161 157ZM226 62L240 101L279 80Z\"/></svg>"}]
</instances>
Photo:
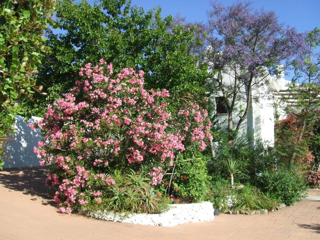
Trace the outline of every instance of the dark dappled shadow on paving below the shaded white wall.
<instances>
[{"instance_id":1,"label":"dark dappled shadow on paving below the shaded white wall","mask_svg":"<svg viewBox=\"0 0 320 240\"><path fill-rule=\"evenodd\" d=\"M0 184L26 195L42 197L47 200L43 201L43 204L52 204L45 186L47 174L48 170L44 167L6 168L0 172Z\"/></svg>"}]
</instances>

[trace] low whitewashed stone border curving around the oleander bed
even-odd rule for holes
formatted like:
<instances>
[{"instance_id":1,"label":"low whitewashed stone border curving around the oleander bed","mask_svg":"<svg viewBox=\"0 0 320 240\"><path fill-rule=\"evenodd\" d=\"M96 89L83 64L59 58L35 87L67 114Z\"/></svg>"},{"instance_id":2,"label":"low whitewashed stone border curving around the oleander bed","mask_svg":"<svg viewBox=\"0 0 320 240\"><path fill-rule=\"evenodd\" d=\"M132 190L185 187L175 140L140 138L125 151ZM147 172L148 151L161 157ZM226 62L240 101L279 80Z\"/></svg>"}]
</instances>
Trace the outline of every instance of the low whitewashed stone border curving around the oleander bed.
<instances>
[{"instance_id":1,"label":"low whitewashed stone border curving around the oleander bed","mask_svg":"<svg viewBox=\"0 0 320 240\"><path fill-rule=\"evenodd\" d=\"M171 204L167 212L160 214L113 213L106 210L88 212L87 215L114 222L125 222L141 225L172 227L187 222L204 222L214 220L213 205L210 202L194 204Z\"/></svg>"}]
</instances>

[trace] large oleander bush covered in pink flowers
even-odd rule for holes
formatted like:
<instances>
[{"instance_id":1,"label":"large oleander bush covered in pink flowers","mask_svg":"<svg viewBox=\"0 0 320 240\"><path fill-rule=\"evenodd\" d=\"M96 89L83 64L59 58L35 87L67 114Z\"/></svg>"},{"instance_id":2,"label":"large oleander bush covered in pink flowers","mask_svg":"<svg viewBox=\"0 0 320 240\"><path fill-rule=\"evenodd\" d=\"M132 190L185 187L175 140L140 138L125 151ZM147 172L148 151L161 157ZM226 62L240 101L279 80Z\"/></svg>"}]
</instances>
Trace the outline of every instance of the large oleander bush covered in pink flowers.
<instances>
[{"instance_id":1,"label":"large oleander bush covered in pink flowers","mask_svg":"<svg viewBox=\"0 0 320 240\"><path fill-rule=\"evenodd\" d=\"M116 170L143 172L159 185L177 153L202 151L212 138L206 110L192 102L173 107L167 90L144 89L143 75L132 68L114 73L103 59L88 63L76 87L30 125L42 131L34 151L50 165L47 185L60 212L114 197Z\"/></svg>"}]
</instances>

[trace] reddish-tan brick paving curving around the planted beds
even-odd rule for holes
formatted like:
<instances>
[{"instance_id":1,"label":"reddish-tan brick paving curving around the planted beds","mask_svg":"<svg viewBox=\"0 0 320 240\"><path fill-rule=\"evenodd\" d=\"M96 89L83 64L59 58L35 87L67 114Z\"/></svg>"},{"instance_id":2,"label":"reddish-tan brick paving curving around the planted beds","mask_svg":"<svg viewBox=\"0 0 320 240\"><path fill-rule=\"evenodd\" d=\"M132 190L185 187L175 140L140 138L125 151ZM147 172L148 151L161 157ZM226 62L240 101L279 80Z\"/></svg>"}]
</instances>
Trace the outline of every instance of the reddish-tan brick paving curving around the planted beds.
<instances>
[{"instance_id":1,"label":"reddish-tan brick paving curving around the planted beds","mask_svg":"<svg viewBox=\"0 0 320 240\"><path fill-rule=\"evenodd\" d=\"M45 172L43 168L0 172L1 240L320 239L320 201L310 200L267 215L221 214L211 222L172 228L59 214L45 195Z\"/></svg>"}]
</instances>

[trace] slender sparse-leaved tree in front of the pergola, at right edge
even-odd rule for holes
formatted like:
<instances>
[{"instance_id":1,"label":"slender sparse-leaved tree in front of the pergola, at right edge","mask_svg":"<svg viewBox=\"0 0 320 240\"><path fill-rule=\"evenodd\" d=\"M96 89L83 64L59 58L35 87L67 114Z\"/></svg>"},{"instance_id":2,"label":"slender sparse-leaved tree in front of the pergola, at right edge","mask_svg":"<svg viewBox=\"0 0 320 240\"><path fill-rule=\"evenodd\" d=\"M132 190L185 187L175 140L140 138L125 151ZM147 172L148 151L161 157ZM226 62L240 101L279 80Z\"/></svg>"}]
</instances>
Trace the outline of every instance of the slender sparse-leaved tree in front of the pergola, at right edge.
<instances>
[{"instance_id":1,"label":"slender sparse-leaved tree in front of the pergola, at right edge","mask_svg":"<svg viewBox=\"0 0 320 240\"><path fill-rule=\"evenodd\" d=\"M294 163L299 153L297 148L302 147L300 144L302 141L305 141L305 145L310 146L313 139L310 132L313 132L319 119L320 53L317 52L317 47L320 46L320 29L315 28L310 31L305 39L305 48L293 61L295 76L292 84L282 94L285 113L296 120L296 128L293 132L296 144L293 145L294 150L289 154L290 164Z\"/></svg>"}]
</instances>

